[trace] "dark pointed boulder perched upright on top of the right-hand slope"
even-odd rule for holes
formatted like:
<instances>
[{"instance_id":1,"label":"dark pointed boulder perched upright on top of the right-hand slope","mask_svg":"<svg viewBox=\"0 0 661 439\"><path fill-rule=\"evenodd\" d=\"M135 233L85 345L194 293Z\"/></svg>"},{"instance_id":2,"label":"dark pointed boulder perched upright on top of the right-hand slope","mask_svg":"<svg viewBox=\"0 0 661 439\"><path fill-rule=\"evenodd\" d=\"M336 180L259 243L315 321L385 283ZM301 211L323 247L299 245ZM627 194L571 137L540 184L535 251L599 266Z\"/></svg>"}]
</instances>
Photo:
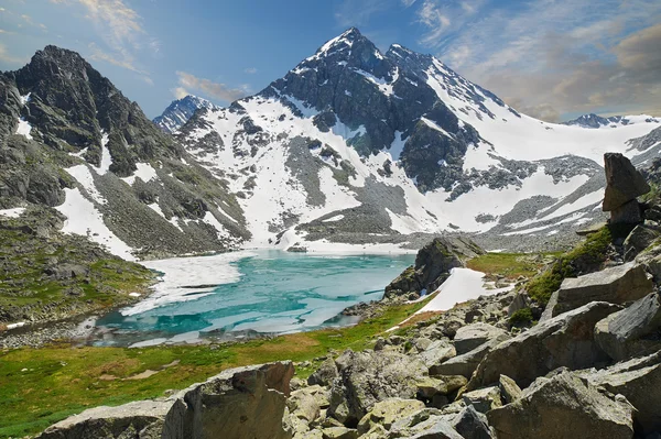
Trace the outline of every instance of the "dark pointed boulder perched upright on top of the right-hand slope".
<instances>
[{"instance_id":1,"label":"dark pointed boulder perched upright on top of the right-hand slope","mask_svg":"<svg viewBox=\"0 0 661 439\"><path fill-rule=\"evenodd\" d=\"M651 189L642 174L622 154L604 154L604 171L606 172L606 193L603 205L605 212L613 211Z\"/></svg>"}]
</instances>

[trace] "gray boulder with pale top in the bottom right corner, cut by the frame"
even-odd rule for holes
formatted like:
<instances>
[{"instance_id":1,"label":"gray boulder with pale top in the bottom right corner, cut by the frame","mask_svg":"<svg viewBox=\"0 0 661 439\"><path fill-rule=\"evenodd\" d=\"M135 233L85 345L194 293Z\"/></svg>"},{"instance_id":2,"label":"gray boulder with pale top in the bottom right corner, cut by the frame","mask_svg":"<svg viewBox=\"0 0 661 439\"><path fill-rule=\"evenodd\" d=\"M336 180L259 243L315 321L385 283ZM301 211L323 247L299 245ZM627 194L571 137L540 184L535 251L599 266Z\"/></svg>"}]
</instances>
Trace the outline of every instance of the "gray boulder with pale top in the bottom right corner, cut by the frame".
<instances>
[{"instance_id":1,"label":"gray boulder with pale top in the bottom right corner, cut by the frame","mask_svg":"<svg viewBox=\"0 0 661 439\"><path fill-rule=\"evenodd\" d=\"M636 407L636 425L644 433L661 431L661 351L600 371L584 371L590 384L626 396Z\"/></svg>"}]
</instances>

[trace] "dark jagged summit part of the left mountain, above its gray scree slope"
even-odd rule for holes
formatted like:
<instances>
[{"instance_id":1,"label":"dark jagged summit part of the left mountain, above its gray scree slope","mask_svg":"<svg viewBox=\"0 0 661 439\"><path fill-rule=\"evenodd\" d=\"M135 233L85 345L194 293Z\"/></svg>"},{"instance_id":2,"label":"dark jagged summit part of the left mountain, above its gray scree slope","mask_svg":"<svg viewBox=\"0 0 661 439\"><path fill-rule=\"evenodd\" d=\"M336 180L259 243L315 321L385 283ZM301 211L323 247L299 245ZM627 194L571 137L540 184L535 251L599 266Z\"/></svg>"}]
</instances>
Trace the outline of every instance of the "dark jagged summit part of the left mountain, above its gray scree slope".
<instances>
[{"instance_id":1,"label":"dark jagged summit part of the left mountain, above its gray scree slope","mask_svg":"<svg viewBox=\"0 0 661 439\"><path fill-rule=\"evenodd\" d=\"M46 46L4 77L21 95L13 110L31 124L34 140L52 150L85 150L83 157L98 166L107 136L110 171L120 176L136 171L137 162L181 155L136 102L76 52Z\"/></svg>"}]
</instances>

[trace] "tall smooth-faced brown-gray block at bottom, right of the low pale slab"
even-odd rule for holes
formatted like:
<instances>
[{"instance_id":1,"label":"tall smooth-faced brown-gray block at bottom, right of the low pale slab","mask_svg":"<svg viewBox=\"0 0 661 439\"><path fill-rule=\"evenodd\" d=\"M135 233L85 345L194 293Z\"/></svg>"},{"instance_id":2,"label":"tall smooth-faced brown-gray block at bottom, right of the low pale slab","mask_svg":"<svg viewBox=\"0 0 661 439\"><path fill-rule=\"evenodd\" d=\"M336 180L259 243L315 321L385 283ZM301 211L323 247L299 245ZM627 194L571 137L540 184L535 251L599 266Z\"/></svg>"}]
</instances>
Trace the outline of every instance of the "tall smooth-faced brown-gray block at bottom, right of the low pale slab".
<instances>
[{"instance_id":1,"label":"tall smooth-faced brown-gray block at bottom, right of the low pale slab","mask_svg":"<svg viewBox=\"0 0 661 439\"><path fill-rule=\"evenodd\" d=\"M285 399L291 362L230 369L182 391L165 417L162 439L289 439Z\"/></svg>"}]
</instances>

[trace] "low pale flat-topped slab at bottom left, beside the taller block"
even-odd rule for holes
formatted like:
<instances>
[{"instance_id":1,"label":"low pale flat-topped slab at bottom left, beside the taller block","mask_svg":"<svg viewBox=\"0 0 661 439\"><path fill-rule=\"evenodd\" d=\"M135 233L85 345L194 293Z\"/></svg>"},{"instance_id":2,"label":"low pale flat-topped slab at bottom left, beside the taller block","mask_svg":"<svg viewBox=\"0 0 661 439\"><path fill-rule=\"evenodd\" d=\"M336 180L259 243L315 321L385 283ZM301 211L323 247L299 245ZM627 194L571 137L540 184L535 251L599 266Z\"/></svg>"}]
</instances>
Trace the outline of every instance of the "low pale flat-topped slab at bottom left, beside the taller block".
<instances>
[{"instance_id":1,"label":"low pale flat-topped slab at bottom left, beside the taller block","mask_svg":"<svg viewBox=\"0 0 661 439\"><path fill-rule=\"evenodd\" d=\"M160 439L172 400L140 400L118 407L95 407L42 432L40 439Z\"/></svg>"}]
</instances>

